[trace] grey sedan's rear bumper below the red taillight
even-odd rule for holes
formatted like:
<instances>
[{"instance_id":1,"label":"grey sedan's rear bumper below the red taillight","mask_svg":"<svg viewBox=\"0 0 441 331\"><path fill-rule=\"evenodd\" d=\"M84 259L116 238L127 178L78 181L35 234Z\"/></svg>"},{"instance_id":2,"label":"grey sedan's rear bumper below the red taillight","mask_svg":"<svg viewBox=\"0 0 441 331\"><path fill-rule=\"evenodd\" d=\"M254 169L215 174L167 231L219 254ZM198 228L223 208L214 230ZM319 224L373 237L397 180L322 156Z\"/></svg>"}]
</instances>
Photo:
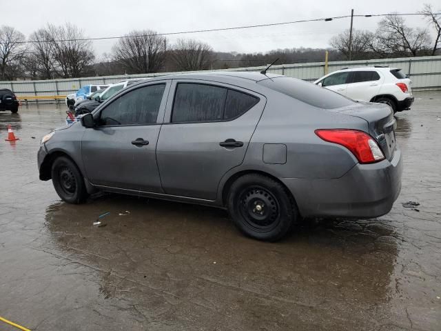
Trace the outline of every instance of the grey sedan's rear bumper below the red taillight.
<instances>
[{"instance_id":1,"label":"grey sedan's rear bumper below the red taillight","mask_svg":"<svg viewBox=\"0 0 441 331\"><path fill-rule=\"evenodd\" d=\"M282 181L294 194L303 217L372 218L387 214L401 190L402 158L357 164L338 179Z\"/></svg>"}]
</instances>

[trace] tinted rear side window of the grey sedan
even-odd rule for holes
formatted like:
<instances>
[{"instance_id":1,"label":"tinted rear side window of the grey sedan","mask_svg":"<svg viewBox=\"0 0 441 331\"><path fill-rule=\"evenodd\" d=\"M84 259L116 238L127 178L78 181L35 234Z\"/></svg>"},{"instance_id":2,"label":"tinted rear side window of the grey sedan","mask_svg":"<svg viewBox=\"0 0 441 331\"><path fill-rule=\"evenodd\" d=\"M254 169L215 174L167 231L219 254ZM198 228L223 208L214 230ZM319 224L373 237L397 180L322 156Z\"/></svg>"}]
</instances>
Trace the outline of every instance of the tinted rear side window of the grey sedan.
<instances>
[{"instance_id":1,"label":"tinted rear side window of the grey sedan","mask_svg":"<svg viewBox=\"0 0 441 331\"><path fill-rule=\"evenodd\" d=\"M178 83L172 122L207 122L234 119L252 108L259 99L220 86Z\"/></svg>"}]
</instances>

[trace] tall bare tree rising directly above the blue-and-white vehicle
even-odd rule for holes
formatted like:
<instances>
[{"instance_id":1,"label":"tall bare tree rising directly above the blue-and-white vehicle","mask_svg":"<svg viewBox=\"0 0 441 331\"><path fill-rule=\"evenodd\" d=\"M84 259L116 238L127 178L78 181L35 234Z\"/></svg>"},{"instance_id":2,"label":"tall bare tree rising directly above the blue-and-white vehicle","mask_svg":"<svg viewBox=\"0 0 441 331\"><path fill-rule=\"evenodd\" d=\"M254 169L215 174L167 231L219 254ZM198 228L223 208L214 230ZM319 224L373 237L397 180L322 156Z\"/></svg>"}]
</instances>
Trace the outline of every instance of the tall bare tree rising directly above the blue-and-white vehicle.
<instances>
[{"instance_id":1,"label":"tall bare tree rising directly above the blue-and-white vehicle","mask_svg":"<svg viewBox=\"0 0 441 331\"><path fill-rule=\"evenodd\" d=\"M65 26L48 24L45 30L52 47L54 69L59 75L69 78L84 74L94 60L92 41L84 40L82 30L70 23Z\"/></svg>"}]
</instances>

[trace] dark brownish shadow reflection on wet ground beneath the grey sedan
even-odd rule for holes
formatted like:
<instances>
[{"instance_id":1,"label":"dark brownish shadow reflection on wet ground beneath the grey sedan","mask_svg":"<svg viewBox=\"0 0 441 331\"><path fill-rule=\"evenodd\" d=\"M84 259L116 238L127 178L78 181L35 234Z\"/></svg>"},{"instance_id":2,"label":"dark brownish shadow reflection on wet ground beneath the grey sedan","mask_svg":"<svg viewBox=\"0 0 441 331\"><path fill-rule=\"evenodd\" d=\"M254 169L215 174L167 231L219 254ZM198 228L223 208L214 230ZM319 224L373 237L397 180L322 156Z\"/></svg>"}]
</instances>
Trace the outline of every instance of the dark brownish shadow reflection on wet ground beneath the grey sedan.
<instances>
[{"instance_id":1,"label":"dark brownish shadow reflection on wet ground beneath the grey sedan","mask_svg":"<svg viewBox=\"0 0 441 331\"><path fill-rule=\"evenodd\" d=\"M94 226L98 219L105 226ZM128 279L123 296L130 301L152 288L185 299L215 287L282 302L344 295L377 304L389 298L398 254L396 231L381 220L310 220L265 243L241 235L225 210L117 194L84 205L54 203L45 225L50 249L99 270L106 298L118 297L115 288ZM207 300L228 305L216 291Z\"/></svg>"}]
</instances>

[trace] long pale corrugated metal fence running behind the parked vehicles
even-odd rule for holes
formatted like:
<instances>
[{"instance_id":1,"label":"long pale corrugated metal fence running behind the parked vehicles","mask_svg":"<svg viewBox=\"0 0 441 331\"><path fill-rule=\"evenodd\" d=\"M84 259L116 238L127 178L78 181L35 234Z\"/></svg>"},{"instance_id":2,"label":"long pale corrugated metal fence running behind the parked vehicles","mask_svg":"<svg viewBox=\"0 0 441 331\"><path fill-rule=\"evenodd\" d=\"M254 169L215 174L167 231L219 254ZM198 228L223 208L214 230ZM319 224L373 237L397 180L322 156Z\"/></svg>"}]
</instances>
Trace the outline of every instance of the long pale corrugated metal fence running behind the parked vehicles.
<instances>
[{"instance_id":1,"label":"long pale corrugated metal fence running behind the parked vehicles","mask_svg":"<svg viewBox=\"0 0 441 331\"><path fill-rule=\"evenodd\" d=\"M365 61L331 61L329 72L346 67L389 66L401 68L412 79L413 90L441 89L441 56L405 57L398 59L373 59ZM260 71L265 67L232 68L215 71ZM210 70L212 71L212 70ZM325 62L298 63L272 66L268 72L285 74L289 77L314 81L325 74ZM20 96L29 95L64 95L76 92L81 86L89 84L116 83L122 79L135 77L158 77L183 72L160 72L156 74L131 74L105 77L87 77L78 79L51 79L44 81L0 81L0 88L10 88Z\"/></svg>"}]
</instances>

